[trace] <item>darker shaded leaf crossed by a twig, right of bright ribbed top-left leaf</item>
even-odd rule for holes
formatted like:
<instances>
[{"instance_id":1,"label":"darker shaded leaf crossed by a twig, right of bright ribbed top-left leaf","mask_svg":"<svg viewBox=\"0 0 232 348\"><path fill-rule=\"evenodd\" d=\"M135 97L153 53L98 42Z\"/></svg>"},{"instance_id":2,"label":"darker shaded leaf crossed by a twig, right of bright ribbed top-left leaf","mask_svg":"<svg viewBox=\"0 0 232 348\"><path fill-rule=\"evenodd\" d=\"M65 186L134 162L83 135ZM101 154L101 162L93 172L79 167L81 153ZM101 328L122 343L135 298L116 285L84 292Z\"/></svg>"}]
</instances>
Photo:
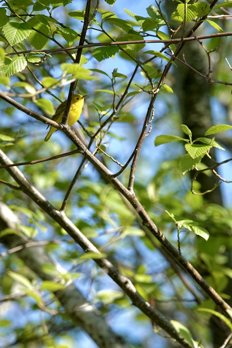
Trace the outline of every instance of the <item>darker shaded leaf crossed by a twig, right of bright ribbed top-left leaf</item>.
<instances>
[{"instance_id":1,"label":"darker shaded leaf crossed by a twig, right of bright ribbed top-left leaf","mask_svg":"<svg viewBox=\"0 0 232 348\"><path fill-rule=\"evenodd\" d=\"M40 15L36 15L33 18L29 19L27 23L30 24L32 28L37 29L41 32L40 34L37 31L32 30L28 38L29 42L35 49L42 49L48 42L48 38L43 34L47 36L50 35L49 23L45 18L43 18L43 16Z\"/></svg>"}]
</instances>

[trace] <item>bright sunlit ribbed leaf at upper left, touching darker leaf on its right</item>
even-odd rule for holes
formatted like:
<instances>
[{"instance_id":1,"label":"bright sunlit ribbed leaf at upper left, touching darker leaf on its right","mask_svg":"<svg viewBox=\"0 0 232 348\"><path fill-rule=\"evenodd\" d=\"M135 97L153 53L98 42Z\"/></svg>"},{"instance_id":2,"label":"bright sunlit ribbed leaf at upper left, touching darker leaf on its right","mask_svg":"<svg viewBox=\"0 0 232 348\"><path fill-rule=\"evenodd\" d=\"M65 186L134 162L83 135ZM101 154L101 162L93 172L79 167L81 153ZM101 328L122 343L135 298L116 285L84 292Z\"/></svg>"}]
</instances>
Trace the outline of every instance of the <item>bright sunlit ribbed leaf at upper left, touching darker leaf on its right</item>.
<instances>
[{"instance_id":1,"label":"bright sunlit ribbed leaf at upper left, touching darker leaf on its right","mask_svg":"<svg viewBox=\"0 0 232 348\"><path fill-rule=\"evenodd\" d=\"M29 37L31 27L27 23L9 21L2 27L2 31L9 44L13 46Z\"/></svg>"}]
</instances>

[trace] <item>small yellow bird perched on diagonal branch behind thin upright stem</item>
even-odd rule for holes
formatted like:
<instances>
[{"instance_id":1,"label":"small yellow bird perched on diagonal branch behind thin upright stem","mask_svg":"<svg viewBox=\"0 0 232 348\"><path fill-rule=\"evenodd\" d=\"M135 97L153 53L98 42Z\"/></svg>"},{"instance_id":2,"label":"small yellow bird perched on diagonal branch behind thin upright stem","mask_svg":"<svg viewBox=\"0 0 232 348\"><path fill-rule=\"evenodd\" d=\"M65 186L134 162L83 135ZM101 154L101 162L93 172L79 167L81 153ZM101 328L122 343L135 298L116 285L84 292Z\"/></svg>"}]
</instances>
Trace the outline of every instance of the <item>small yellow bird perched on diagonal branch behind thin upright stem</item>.
<instances>
[{"instance_id":1,"label":"small yellow bird perched on diagonal branch behind thin upright stem","mask_svg":"<svg viewBox=\"0 0 232 348\"><path fill-rule=\"evenodd\" d=\"M70 108L70 112L69 112L68 126L74 125L74 123L77 122L77 120L81 116L81 111L82 111L82 108L84 105L84 98L85 97L87 97L87 95L73 94L72 104L71 104L71 108ZM56 109L56 112L54 113L54 115L52 117L53 121L56 121L57 123L61 123L66 103L67 103L67 101L65 100L63 103L61 103L58 106L58 108ZM56 128L51 126L44 141L48 141L50 139L50 136L56 130L57 130Z\"/></svg>"}]
</instances>

